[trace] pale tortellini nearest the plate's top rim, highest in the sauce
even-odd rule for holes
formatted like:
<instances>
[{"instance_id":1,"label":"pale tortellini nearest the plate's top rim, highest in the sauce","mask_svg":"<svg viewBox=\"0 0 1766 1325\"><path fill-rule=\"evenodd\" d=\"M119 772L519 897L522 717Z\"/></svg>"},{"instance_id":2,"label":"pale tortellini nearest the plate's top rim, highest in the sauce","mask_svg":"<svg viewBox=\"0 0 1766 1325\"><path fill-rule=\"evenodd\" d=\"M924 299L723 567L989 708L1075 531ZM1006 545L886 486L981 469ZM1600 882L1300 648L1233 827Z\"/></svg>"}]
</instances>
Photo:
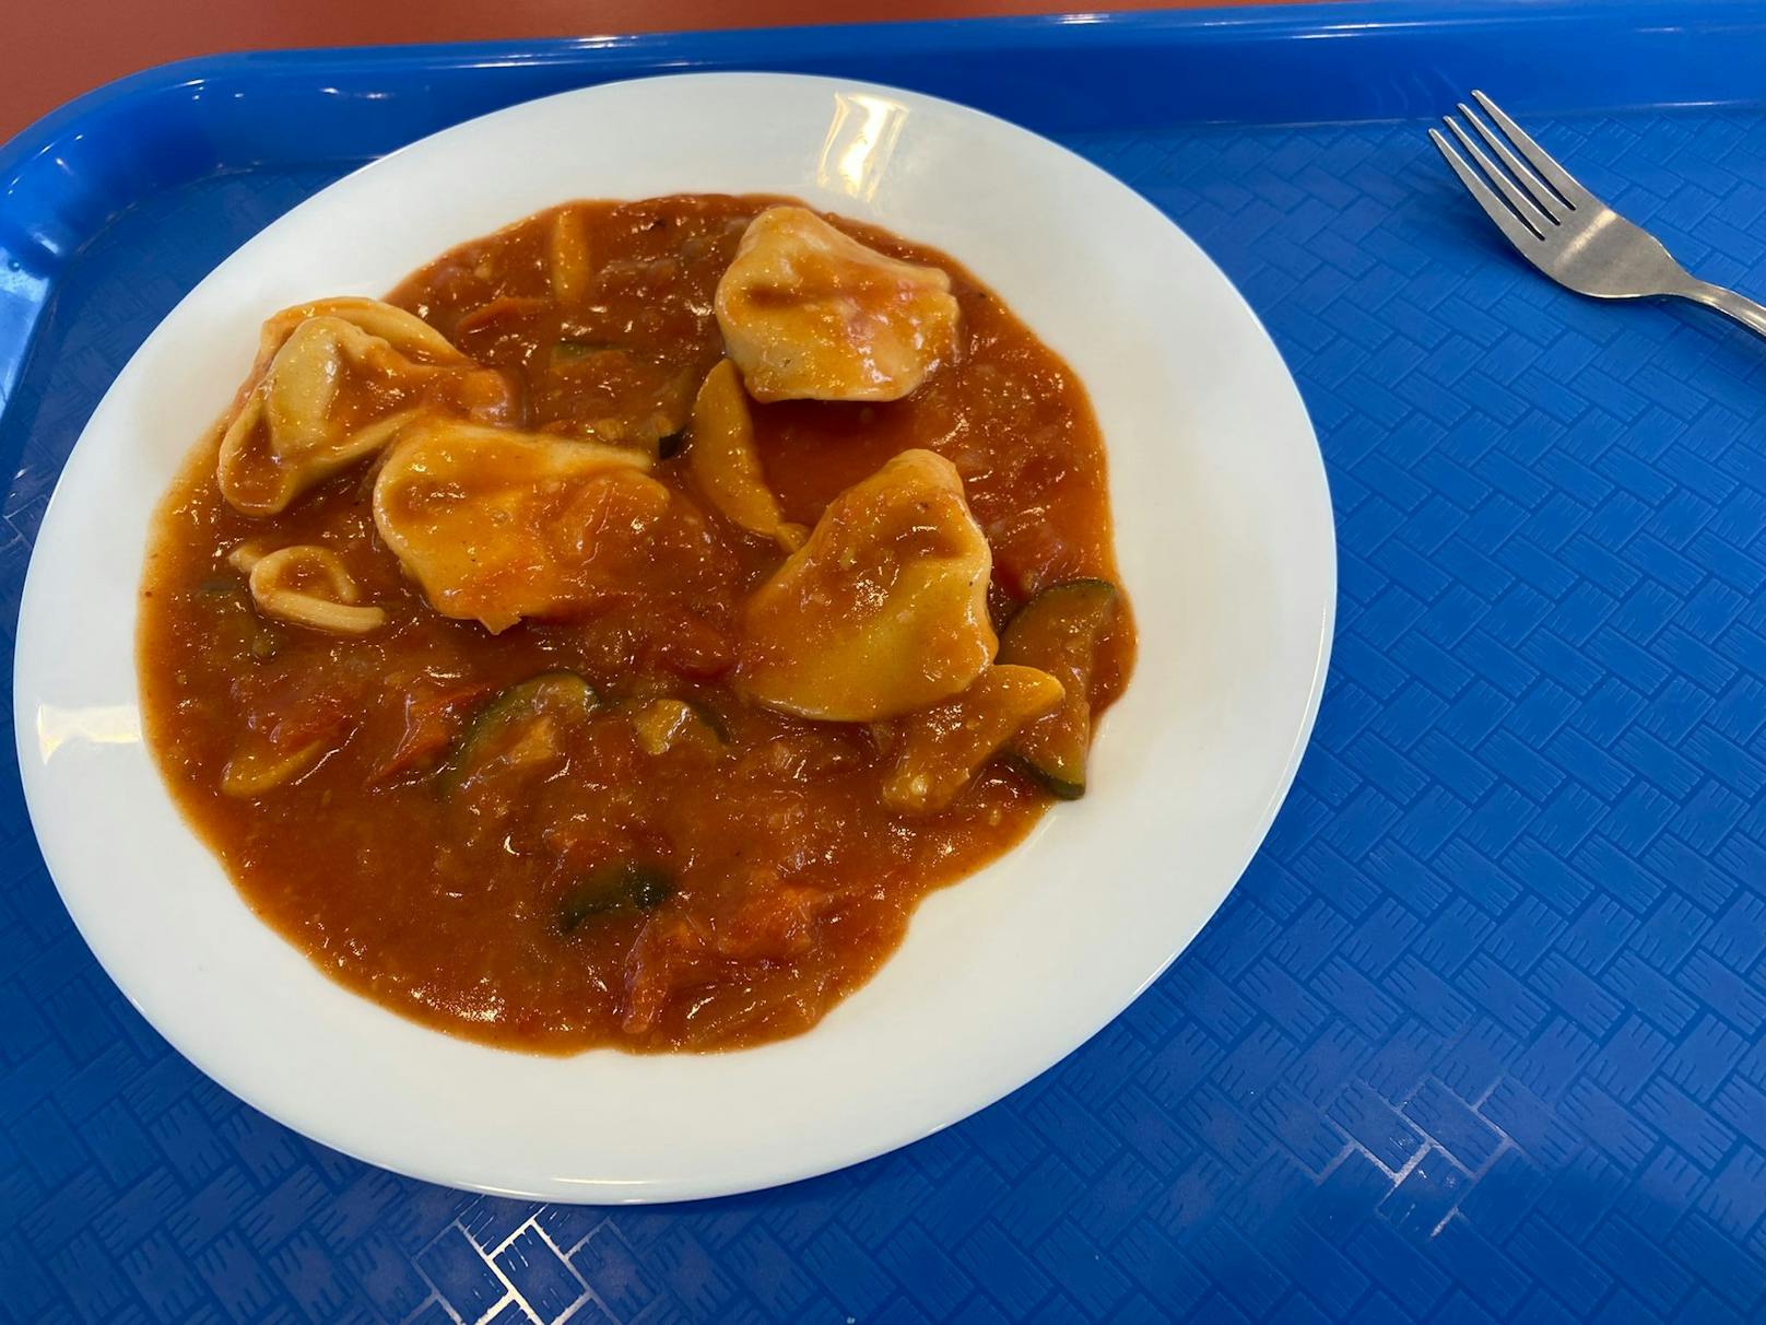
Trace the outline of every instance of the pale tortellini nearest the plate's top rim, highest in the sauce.
<instances>
[{"instance_id":1,"label":"pale tortellini nearest the plate's top rim, highest in the sauce","mask_svg":"<svg viewBox=\"0 0 1766 1325\"><path fill-rule=\"evenodd\" d=\"M894 401L955 350L957 300L936 267L768 207L717 283L717 323L758 401Z\"/></svg>"}]
</instances>

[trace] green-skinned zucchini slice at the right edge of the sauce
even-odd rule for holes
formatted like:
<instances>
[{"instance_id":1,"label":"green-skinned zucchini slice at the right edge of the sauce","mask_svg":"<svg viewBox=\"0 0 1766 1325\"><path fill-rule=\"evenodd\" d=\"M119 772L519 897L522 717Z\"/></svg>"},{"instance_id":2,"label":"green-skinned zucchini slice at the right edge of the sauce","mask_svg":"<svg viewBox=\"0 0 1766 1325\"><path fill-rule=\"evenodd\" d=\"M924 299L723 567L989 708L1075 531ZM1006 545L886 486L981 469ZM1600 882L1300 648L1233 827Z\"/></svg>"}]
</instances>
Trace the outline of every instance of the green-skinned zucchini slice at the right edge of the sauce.
<instances>
[{"instance_id":1,"label":"green-skinned zucchini slice at the right edge of the sauce","mask_svg":"<svg viewBox=\"0 0 1766 1325\"><path fill-rule=\"evenodd\" d=\"M1107 579L1051 585L1019 608L1000 636L1000 662L1047 671L1067 691L1053 712L1026 723L1005 746L1012 765L1061 800L1086 793L1091 668L1118 599Z\"/></svg>"}]
</instances>

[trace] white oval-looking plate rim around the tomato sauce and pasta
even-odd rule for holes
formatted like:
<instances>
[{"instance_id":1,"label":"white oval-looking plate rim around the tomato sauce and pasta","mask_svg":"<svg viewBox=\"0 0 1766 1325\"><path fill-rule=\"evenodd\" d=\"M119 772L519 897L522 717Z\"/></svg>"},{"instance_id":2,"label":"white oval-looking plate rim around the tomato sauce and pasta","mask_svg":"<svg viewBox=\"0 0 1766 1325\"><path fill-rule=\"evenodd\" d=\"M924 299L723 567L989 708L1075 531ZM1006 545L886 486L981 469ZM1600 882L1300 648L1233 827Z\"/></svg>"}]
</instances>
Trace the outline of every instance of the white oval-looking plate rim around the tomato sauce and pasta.
<instances>
[{"instance_id":1,"label":"white oval-looking plate rim around the tomato sauce and pasta","mask_svg":"<svg viewBox=\"0 0 1766 1325\"><path fill-rule=\"evenodd\" d=\"M1091 793L934 894L818 1028L713 1056L505 1053L344 991L263 926L140 738L148 516L265 314L378 295L569 198L786 193L966 263L1074 366L1109 447L1139 670ZM1000 120L890 88L692 74L567 92L334 184L173 309L37 535L19 765L57 887L143 1016L290 1127L434 1182L565 1201L766 1187L913 1141L1083 1044L1183 950L1287 791L1335 608L1324 470L1250 309L1153 207Z\"/></svg>"}]
</instances>

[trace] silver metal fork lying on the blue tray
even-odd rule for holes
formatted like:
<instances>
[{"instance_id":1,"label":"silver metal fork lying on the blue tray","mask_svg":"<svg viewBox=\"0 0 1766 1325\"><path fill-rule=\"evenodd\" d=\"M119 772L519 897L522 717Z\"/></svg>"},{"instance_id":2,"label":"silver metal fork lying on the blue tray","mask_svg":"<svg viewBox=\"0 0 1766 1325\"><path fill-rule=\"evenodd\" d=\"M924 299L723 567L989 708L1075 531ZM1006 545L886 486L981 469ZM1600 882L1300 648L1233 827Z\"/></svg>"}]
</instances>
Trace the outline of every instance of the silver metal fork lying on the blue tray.
<instances>
[{"instance_id":1,"label":"silver metal fork lying on the blue tray","mask_svg":"<svg viewBox=\"0 0 1766 1325\"><path fill-rule=\"evenodd\" d=\"M1688 274L1649 231L1632 224L1572 178L1526 129L1482 92L1473 99L1506 134L1496 134L1464 101L1459 113L1496 154L1491 161L1452 115L1445 117L1478 175L1453 145L1430 129L1429 138L1459 182L1508 235L1521 256L1579 295L1595 299L1690 299L1766 336L1766 306ZM1506 168L1506 170L1505 170ZM1492 187L1494 186L1494 187Z\"/></svg>"}]
</instances>

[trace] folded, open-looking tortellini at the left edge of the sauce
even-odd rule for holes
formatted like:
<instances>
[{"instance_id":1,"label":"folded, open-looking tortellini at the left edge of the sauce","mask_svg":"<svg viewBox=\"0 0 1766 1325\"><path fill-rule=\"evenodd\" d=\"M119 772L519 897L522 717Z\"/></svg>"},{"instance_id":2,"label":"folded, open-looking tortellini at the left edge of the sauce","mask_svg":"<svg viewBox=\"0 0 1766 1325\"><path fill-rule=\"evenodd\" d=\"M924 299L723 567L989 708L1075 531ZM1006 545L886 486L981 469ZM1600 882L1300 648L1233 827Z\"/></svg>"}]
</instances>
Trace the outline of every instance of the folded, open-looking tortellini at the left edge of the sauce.
<instances>
[{"instance_id":1,"label":"folded, open-looking tortellini at the left edge of the sauce","mask_svg":"<svg viewBox=\"0 0 1766 1325\"><path fill-rule=\"evenodd\" d=\"M254 382L221 436L221 495L274 516L337 470L385 447L431 403L494 420L510 405L422 318L374 299L327 299L263 323Z\"/></svg>"}]
</instances>

